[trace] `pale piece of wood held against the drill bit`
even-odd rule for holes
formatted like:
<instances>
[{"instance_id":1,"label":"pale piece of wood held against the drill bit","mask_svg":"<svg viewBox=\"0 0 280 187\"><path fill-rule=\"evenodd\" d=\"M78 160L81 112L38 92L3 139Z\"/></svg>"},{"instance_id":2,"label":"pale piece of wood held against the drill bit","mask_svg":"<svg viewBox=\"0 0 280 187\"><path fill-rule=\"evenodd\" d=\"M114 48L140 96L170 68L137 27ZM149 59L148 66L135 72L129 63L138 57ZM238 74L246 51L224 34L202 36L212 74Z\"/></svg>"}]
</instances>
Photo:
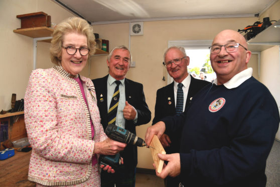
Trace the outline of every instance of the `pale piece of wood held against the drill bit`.
<instances>
[{"instance_id":1,"label":"pale piece of wood held against the drill bit","mask_svg":"<svg viewBox=\"0 0 280 187\"><path fill-rule=\"evenodd\" d=\"M156 165L156 168L157 168L157 172L158 173L161 173L162 172L162 169L163 169L163 164L164 164L164 161L161 160L159 157L158 157L158 153L161 153L161 154L166 154L159 138L157 135L154 135L153 139L152 139L152 142L150 144L150 146L154 147L150 147L150 150L151 150L151 153L152 153L152 157L153 157L153 160L154 160L154 163Z\"/></svg>"}]
</instances>

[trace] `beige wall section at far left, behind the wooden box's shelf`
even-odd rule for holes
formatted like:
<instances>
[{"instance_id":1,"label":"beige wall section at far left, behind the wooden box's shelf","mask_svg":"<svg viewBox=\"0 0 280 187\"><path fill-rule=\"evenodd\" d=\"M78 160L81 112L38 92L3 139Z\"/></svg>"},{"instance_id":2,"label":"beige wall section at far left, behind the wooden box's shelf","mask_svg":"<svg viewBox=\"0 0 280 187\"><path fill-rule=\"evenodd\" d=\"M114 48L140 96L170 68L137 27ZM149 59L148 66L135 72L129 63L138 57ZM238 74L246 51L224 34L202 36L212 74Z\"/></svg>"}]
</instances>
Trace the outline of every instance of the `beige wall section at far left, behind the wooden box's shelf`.
<instances>
[{"instance_id":1,"label":"beige wall section at far left, behind the wooden box's shelf","mask_svg":"<svg viewBox=\"0 0 280 187\"><path fill-rule=\"evenodd\" d=\"M24 97L25 88L32 69L33 40L13 32L21 27L21 21L16 18L25 14L23 10L33 11L34 1L1 1L0 3L0 35L2 54L0 74L0 109L11 109L12 93L17 94L17 100ZM35 3L36 4L36 3ZM36 7L36 6L35 6ZM5 18L5 19L3 19Z\"/></svg>"}]
</instances>

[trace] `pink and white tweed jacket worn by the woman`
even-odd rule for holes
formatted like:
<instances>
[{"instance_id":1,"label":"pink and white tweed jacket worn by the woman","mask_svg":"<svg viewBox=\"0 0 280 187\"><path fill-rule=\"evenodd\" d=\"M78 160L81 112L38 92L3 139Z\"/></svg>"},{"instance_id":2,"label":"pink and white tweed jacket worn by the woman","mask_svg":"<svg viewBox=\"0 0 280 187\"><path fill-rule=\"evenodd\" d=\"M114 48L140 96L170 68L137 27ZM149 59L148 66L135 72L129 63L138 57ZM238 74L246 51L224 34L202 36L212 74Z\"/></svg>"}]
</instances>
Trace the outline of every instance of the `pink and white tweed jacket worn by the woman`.
<instances>
[{"instance_id":1,"label":"pink and white tweed jacket worn by the woman","mask_svg":"<svg viewBox=\"0 0 280 187\"><path fill-rule=\"evenodd\" d=\"M79 84L61 67L32 72L25 95L25 123L32 146L28 179L43 185L81 183L91 174L94 142L106 139L100 124L94 85ZM90 118L94 125L91 137Z\"/></svg>"}]
</instances>

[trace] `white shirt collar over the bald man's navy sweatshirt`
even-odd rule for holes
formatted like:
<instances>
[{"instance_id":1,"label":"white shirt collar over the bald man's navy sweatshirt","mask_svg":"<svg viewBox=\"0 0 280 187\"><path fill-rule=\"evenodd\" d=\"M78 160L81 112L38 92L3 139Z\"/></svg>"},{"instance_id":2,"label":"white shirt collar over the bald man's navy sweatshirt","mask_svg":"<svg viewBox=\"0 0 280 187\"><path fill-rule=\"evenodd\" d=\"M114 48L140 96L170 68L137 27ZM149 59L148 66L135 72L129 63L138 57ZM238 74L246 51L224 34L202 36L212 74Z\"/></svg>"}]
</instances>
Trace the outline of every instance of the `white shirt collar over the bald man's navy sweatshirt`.
<instances>
[{"instance_id":1,"label":"white shirt collar over the bald man's navy sweatshirt","mask_svg":"<svg viewBox=\"0 0 280 187\"><path fill-rule=\"evenodd\" d=\"M240 84L242 84L245 80L249 79L253 74L253 69L251 67L237 73L234 75L229 81L224 83L224 86L228 89L238 87ZM217 78L213 82L214 84L217 84Z\"/></svg>"}]
</instances>

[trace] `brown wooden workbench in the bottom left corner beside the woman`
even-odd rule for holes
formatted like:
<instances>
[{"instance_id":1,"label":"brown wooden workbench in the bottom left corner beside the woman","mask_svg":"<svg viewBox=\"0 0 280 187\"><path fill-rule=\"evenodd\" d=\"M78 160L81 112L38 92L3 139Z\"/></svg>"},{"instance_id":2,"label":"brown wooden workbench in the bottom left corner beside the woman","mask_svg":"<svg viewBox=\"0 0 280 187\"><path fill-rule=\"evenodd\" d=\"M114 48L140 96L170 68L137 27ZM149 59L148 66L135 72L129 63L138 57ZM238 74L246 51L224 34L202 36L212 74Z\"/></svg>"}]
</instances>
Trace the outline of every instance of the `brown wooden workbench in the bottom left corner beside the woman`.
<instances>
[{"instance_id":1,"label":"brown wooden workbench in the bottom left corner beside the woman","mask_svg":"<svg viewBox=\"0 0 280 187\"><path fill-rule=\"evenodd\" d=\"M25 153L15 150L14 156L0 160L1 186L36 186L35 182L27 179L31 152Z\"/></svg>"}]
</instances>

